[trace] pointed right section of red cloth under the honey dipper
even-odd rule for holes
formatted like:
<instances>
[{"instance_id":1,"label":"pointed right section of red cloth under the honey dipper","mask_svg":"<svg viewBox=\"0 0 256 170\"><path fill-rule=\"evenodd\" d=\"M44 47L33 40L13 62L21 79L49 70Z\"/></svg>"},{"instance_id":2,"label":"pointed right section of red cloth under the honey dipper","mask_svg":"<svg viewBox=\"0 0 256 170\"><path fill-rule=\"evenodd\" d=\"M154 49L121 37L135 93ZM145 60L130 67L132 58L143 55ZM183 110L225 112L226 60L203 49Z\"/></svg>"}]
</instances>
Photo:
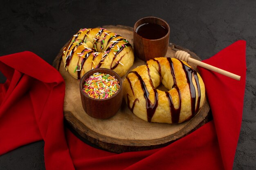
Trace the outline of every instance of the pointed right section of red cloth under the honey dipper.
<instances>
[{"instance_id":1,"label":"pointed right section of red cloth under the honey dipper","mask_svg":"<svg viewBox=\"0 0 256 170\"><path fill-rule=\"evenodd\" d=\"M246 42L240 40L204 60L207 64L240 75L240 81L199 68L213 113L225 170L233 167L242 123L246 79L245 51Z\"/></svg>"}]
</instances>

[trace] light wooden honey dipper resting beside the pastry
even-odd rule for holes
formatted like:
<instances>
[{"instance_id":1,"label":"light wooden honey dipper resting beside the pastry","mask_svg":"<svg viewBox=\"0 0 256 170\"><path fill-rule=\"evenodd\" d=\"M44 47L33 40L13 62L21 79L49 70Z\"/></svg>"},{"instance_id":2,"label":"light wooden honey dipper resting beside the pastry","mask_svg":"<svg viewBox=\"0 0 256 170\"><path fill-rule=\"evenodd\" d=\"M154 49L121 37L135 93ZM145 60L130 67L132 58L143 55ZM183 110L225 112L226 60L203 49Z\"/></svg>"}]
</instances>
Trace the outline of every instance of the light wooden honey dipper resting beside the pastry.
<instances>
[{"instance_id":1,"label":"light wooden honey dipper resting beside the pastry","mask_svg":"<svg viewBox=\"0 0 256 170\"><path fill-rule=\"evenodd\" d=\"M232 78L232 79L236 79L236 80L238 80L238 81L239 81L240 78L241 78L241 76L239 76L239 75L230 73L230 72L228 72L228 71L222 70L222 69L217 68L217 67L215 67L215 66L211 66L211 65L206 64L206 63L204 63L204 62L200 62L200 61L198 61L198 60L195 60L195 59L191 58L191 57L190 57L190 54L187 53L186 51L181 51L181 50L176 51L176 53L175 53L175 58L180 59L180 60L183 60L183 61L185 61L185 62L191 62L191 63L193 63L193 64L196 64L196 65L201 66L201 67L203 67L203 68L207 68L208 70L211 70L211 71L215 71L215 72L217 72L217 73L220 73L220 74L225 75L225 76L227 76L227 77L230 77L230 78Z\"/></svg>"}]
</instances>

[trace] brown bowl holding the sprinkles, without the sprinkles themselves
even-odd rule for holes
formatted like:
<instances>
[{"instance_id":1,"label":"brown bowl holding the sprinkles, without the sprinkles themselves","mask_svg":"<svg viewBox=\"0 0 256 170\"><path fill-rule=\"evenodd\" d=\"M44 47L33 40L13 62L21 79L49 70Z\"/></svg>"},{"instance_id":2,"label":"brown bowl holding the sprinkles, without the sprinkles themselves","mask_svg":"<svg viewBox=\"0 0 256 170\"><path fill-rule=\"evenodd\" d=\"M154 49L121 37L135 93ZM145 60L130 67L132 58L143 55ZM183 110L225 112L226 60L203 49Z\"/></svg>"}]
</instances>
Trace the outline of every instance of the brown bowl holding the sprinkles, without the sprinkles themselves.
<instances>
[{"instance_id":1,"label":"brown bowl holding the sprinkles, without the sprinkles themselves","mask_svg":"<svg viewBox=\"0 0 256 170\"><path fill-rule=\"evenodd\" d=\"M93 73L106 73L111 76L115 76L116 79L119 81L120 88L115 95L107 99L94 99L89 97L83 92L83 84L86 79L88 79ZM96 68L93 70L88 71L83 75L79 82L79 89L81 95L81 101L83 110L89 116L97 118L97 119L108 119L114 116L119 108L121 107L122 103L122 95L123 95L123 86L121 77L115 72L107 68Z\"/></svg>"}]
</instances>

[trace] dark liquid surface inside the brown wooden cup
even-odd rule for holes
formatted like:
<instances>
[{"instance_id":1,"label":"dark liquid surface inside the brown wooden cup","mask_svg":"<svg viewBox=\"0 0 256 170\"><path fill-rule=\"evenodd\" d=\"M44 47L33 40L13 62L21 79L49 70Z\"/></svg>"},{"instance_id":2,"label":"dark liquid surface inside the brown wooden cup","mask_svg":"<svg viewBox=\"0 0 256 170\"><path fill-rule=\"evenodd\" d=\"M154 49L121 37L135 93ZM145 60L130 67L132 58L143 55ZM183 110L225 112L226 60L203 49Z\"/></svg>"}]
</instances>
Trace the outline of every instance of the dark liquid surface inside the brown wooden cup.
<instances>
[{"instance_id":1,"label":"dark liquid surface inside the brown wooden cup","mask_svg":"<svg viewBox=\"0 0 256 170\"><path fill-rule=\"evenodd\" d=\"M136 33L143 38L156 40L164 37L168 33L168 30L162 25L146 23L139 25L136 29Z\"/></svg>"}]
</instances>

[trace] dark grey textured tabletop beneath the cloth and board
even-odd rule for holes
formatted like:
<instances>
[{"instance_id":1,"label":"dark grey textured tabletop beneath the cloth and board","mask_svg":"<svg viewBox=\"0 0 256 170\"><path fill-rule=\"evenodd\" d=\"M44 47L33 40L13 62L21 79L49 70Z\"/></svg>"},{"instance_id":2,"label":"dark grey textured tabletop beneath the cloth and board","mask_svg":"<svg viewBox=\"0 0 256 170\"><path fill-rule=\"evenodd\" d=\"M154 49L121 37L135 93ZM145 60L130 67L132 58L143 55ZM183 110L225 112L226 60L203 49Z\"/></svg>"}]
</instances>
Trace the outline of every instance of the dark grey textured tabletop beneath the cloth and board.
<instances>
[{"instance_id":1,"label":"dark grey textured tabletop beneath the cloth and board","mask_svg":"<svg viewBox=\"0 0 256 170\"><path fill-rule=\"evenodd\" d=\"M78 29L110 24L133 26L146 16L166 20L171 27L170 42L190 49L201 59L211 57L236 40L246 40L245 102L233 170L256 169L256 2L155 2L3 1L0 8L0 56L28 50L52 64L58 51ZM4 82L2 75L0 82ZM44 142L39 141L0 156L0 170L45 169L43 146Z\"/></svg>"}]
</instances>

